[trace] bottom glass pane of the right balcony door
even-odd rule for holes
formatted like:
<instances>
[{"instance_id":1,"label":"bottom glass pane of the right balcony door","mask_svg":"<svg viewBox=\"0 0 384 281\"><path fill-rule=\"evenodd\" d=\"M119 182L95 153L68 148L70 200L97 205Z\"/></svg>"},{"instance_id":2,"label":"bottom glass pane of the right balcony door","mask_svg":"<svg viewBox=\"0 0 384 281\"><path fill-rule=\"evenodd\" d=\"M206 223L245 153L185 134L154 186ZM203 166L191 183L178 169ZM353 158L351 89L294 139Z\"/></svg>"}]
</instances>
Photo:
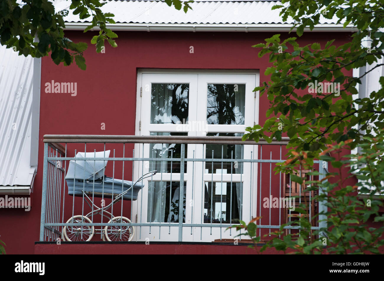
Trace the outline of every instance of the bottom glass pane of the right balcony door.
<instances>
[{"instance_id":1,"label":"bottom glass pane of the right balcony door","mask_svg":"<svg viewBox=\"0 0 384 281\"><path fill-rule=\"evenodd\" d=\"M230 182L205 182L204 223L239 223L241 184ZM231 197L232 194L232 197ZM232 204L231 204L232 198ZM230 219L231 217L231 219Z\"/></svg>"}]
</instances>

